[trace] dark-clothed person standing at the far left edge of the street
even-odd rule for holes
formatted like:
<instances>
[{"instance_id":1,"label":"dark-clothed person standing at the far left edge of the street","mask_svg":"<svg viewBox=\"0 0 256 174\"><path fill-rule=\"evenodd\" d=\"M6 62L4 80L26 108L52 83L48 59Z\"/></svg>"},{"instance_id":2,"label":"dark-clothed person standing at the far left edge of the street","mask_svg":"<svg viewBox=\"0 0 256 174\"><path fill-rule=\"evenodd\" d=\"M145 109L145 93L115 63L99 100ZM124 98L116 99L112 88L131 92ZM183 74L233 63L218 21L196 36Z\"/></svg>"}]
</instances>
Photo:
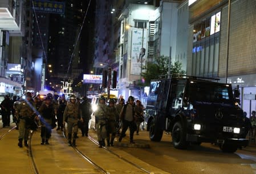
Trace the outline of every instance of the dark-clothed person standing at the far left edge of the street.
<instances>
[{"instance_id":1,"label":"dark-clothed person standing at the far left edge of the street","mask_svg":"<svg viewBox=\"0 0 256 174\"><path fill-rule=\"evenodd\" d=\"M8 95L5 96L5 99L1 102L0 107L2 111L3 127L10 126L11 100Z\"/></svg>"}]
</instances>

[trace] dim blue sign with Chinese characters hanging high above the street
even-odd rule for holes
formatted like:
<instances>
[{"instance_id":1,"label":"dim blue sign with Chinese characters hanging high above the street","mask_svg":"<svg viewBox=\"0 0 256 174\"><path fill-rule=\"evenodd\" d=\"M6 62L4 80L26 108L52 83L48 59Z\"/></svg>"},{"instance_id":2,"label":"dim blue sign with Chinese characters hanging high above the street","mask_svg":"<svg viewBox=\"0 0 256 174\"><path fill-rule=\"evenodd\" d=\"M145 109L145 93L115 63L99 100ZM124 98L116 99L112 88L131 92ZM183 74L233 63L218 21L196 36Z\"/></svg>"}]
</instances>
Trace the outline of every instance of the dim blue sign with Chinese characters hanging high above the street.
<instances>
[{"instance_id":1,"label":"dim blue sign with Chinese characters hanging high above the street","mask_svg":"<svg viewBox=\"0 0 256 174\"><path fill-rule=\"evenodd\" d=\"M35 9L35 11L38 11L40 13L64 14L65 3L55 2L55 1L36 0L34 1L34 6L32 5L32 9L33 10Z\"/></svg>"}]
</instances>

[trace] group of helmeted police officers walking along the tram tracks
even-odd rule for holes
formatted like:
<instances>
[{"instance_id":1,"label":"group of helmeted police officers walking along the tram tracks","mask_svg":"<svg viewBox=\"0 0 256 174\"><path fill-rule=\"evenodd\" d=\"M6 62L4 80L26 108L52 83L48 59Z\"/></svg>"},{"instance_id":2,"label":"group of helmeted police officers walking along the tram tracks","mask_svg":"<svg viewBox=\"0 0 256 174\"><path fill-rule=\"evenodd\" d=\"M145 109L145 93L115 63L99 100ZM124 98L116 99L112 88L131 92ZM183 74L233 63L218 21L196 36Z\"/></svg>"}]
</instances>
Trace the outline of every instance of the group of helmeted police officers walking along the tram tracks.
<instances>
[{"instance_id":1,"label":"group of helmeted police officers walking along the tram tracks","mask_svg":"<svg viewBox=\"0 0 256 174\"><path fill-rule=\"evenodd\" d=\"M56 118L58 128L63 130L67 123L68 145L76 146L78 138L78 125L82 131L82 136L88 136L88 122L91 119L91 105L87 97L83 97L83 102L77 102L74 95L70 96L67 102L65 96L59 98L58 103L53 100L52 95L47 94L46 98L36 96L33 100L30 92L26 93L26 98L22 100L16 108L16 117L19 120L18 146L28 146L29 130L35 130L38 125L41 127L41 144L49 144L51 129L56 127ZM115 100L110 99L109 105L106 105L106 98L99 97L99 104L95 111L95 122L97 139L99 147L113 146L116 133L120 130L120 121L123 123L119 142L125 136L128 127L130 130L130 143L133 142L133 134L136 130L136 105L135 99L130 96L128 102L124 104L124 99L120 98L119 103L115 105ZM80 124L79 124L80 123Z\"/></svg>"}]
</instances>

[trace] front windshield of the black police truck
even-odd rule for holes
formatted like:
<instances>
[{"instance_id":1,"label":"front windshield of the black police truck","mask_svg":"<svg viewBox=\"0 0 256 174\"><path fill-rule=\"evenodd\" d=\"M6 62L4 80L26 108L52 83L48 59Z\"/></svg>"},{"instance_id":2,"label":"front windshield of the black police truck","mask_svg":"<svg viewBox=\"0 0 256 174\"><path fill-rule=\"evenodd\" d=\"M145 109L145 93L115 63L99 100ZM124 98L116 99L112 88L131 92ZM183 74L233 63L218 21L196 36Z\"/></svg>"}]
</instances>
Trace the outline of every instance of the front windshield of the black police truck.
<instances>
[{"instance_id":1,"label":"front windshield of the black police truck","mask_svg":"<svg viewBox=\"0 0 256 174\"><path fill-rule=\"evenodd\" d=\"M230 103L232 92L229 85L190 81L189 98L190 101Z\"/></svg>"}]
</instances>

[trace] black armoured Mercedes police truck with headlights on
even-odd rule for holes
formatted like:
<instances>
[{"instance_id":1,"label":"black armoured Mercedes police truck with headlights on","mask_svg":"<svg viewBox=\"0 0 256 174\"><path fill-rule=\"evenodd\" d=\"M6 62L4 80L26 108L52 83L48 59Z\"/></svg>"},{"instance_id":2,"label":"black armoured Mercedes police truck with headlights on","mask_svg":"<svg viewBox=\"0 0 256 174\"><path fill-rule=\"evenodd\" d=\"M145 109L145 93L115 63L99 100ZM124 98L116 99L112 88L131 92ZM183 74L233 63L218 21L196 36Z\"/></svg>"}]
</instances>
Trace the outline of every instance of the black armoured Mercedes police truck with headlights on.
<instances>
[{"instance_id":1,"label":"black armoured Mercedes police truck with headlights on","mask_svg":"<svg viewBox=\"0 0 256 174\"><path fill-rule=\"evenodd\" d=\"M224 152L247 146L241 138L243 111L238 107L238 92L231 84L215 78L174 74L152 80L146 114L150 139L160 141L163 131L172 133L175 148L209 142Z\"/></svg>"}]
</instances>

